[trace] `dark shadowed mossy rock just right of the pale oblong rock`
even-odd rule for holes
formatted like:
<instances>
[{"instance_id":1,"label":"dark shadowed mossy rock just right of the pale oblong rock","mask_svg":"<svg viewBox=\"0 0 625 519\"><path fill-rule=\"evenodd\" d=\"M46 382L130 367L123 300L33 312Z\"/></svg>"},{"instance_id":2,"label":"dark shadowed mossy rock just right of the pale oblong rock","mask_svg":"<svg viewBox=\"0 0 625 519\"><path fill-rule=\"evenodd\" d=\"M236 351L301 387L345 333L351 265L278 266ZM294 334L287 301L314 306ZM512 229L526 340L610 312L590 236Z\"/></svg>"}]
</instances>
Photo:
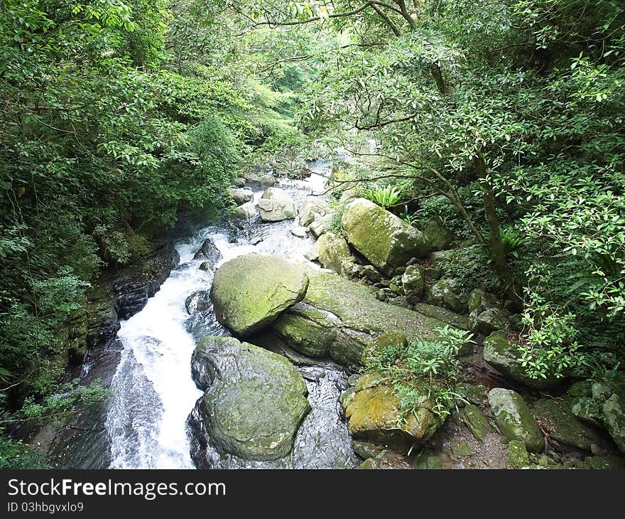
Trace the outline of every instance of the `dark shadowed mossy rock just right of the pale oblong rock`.
<instances>
[{"instance_id":1,"label":"dark shadowed mossy rock just right of the pale oblong rock","mask_svg":"<svg viewBox=\"0 0 625 519\"><path fill-rule=\"evenodd\" d=\"M534 417L545 424L549 436L561 444L590 450L592 444L601 443L599 433L580 422L571 411L570 397L543 398L532 406Z\"/></svg>"}]
</instances>

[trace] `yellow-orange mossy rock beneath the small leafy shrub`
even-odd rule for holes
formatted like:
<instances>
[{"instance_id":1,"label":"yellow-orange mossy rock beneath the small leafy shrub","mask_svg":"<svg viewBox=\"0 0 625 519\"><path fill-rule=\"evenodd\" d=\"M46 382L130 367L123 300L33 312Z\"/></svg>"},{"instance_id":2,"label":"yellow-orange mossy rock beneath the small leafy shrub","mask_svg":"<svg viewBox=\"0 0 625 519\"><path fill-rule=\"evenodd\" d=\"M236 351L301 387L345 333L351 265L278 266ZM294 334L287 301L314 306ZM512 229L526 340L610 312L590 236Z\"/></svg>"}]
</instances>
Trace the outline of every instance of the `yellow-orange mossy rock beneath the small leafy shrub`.
<instances>
[{"instance_id":1,"label":"yellow-orange mossy rock beneath the small leafy shrub","mask_svg":"<svg viewBox=\"0 0 625 519\"><path fill-rule=\"evenodd\" d=\"M422 444L440 426L442 420L431 410L431 402L423 397L423 407L403 416L398 398L388 385L372 385L376 373L363 375L345 410L352 438L376 444L393 444L398 448Z\"/></svg>"}]
</instances>

